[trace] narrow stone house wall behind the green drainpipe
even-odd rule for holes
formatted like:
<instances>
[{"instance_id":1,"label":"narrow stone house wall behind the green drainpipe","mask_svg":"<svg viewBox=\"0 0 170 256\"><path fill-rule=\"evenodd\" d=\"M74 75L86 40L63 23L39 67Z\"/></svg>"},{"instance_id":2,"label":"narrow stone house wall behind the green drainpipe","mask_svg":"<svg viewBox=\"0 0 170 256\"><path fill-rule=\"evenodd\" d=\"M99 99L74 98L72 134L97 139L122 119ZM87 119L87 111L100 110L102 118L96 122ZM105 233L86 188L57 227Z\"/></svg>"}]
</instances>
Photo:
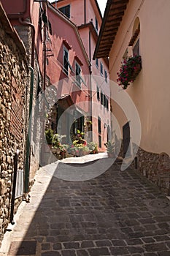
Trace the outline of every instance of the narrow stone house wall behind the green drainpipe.
<instances>
[{"instance_id":1,"label":"narrow stone house wall behind the green drainpipe","mask_svg":"<svg viewBox=\"0 0 170 256\"><path fill-rule=\"evenodd\" d=\"M31 20L27 19L29 23ZM31 28L28 26L15 26L15 29L18 31L20 39L23 40L23 43L26 47L27 59L29 65L31 65ZM30 83L30 80L29 82ZM32 108L32 120L31 120L31 161L30 161L30 188L34 183L34 176L36 170L39 168L39 156L40 156L40 139L41 139L41 123L39 121L39 104L37 103L37 90L41 86L42 79L39 73L39 64L37 60L36 53L34 54L34 91L33 91L33 108ZM28 108L29 108L29 90L27 91L26 99L26 127L28 128ZM26 130L27 132L27 130Z\"/></svg>"}]
</instances>

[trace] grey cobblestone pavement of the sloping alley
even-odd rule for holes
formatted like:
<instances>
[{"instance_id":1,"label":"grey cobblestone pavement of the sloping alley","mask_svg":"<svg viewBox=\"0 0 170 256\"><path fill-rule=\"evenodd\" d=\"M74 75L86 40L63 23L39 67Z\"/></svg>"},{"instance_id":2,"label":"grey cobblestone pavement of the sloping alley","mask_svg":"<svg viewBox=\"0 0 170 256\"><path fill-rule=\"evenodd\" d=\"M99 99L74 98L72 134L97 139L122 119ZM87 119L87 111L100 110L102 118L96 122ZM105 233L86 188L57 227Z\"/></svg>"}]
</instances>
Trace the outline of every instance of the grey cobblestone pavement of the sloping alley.
<instances>
[{"instance_id":1,"label":"grey cobblestone pavement of the sloping alley","mask_svg":"<svg viewBox=\"0 0 170 256\"><path fill-rule=\"evenodd\" d=\"M7 255L169 256L169 206L150 181L116 163L82 182L51 178L41 168Z\"/></svg>"}]
</instances>

